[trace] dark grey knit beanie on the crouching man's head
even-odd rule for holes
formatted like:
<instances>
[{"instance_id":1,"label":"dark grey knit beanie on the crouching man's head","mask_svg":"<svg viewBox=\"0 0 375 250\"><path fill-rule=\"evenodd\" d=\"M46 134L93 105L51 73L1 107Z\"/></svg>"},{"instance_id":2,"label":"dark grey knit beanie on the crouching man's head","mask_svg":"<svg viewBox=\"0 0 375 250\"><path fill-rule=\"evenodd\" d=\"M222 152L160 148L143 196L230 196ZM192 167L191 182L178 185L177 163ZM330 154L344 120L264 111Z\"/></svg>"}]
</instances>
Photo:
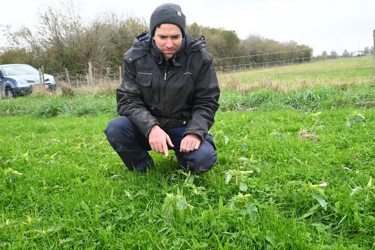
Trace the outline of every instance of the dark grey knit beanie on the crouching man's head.
<instances>
[{"instance_id":1,"label":"dark grey knit beanie on the crouching man's head","mask_svg":"<svg viewBox=\"0 0 375 250\"><path fill-rule=\"evenodd\" d=\"M150 33L155 35L156 27L161 24L174 24L180 27L182 37L185 37L186 18L181 11L181 7L175 4L164 4L158 6L150 18Z\"/></svg>"}]
</instances>

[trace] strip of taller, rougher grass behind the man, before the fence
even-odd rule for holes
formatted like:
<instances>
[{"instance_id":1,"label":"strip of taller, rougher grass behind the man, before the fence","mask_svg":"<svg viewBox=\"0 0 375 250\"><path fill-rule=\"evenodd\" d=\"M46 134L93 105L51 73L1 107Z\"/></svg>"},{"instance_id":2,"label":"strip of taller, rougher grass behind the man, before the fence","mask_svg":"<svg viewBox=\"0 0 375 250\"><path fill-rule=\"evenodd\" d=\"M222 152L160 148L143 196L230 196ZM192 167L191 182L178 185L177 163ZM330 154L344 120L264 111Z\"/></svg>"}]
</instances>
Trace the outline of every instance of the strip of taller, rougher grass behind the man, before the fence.
<instances>
[{"instance_id":1,"label":"strip of taller, rougher grass behind the man, before the fence","mask_svg":"<svg viewBox=\"0 0 375 250\"><path fill-rule=\"evenodd\" d=\"M220 110L241 111L251 108L277 110L298 108L321 110L351 106L375 100L375 85L319 86L279 92L259 89L252 92L226 90L220 96ZM34 118L55 116L115 115L116 103L113 95L73 97L35 97L1 100L0 117L22 115Z\"/></svg>"}]
</instances>

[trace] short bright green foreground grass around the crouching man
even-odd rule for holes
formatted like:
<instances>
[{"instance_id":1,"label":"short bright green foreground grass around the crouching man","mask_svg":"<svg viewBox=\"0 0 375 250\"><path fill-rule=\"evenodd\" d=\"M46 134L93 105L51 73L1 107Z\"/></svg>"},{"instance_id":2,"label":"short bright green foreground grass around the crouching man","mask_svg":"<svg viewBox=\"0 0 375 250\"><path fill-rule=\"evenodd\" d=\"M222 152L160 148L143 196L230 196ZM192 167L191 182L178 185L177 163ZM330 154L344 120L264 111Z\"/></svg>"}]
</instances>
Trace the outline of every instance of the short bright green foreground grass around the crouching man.
<instances>
[{"instance_id":1,"label":"short bright green foreground grass around the crouching man","mask_svg":"<svg viewBox=\"0 0 375 250\"><path fill-rule=\"evenodd\" d=\"M357 113L365 119L347 127L346 118ZM102 132L111 118L2 118L3 247L372 247L375 197L350 193L375 174L373 109L220 112L212 129L219 163L193 181L173 156L155 153L155 170L124 170ZM318 138L300 139L302 129ZM255 170L243 193L251 194L246 202L257 207L256 221L219 209L219 199L225 205L239 192L234 180L225 184L229 169ZM205 190L195 194L186 182ZM177 188L194 208L174 207L169 224L162 206ZM312 194L322 191L326 210L301 218L318 203Z\"/></svg>"}]
</instances>

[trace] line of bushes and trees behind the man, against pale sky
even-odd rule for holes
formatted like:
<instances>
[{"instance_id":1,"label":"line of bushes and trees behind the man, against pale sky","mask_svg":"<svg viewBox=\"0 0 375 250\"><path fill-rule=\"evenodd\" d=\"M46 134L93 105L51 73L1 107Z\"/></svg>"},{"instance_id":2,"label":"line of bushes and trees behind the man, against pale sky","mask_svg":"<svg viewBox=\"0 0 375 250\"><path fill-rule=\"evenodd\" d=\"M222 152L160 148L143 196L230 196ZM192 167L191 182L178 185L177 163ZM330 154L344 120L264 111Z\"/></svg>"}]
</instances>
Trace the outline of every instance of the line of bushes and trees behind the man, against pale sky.
<instances>
[{"instance_id":1,"label":"line of bushes and trees behind the man, against pale sky","mask_svg":"<svg viewBox=\"0 0 375 250\"><path fill-rule=\"evenodd\" d=\"M118 67L134 38L148 30L148 24L141 18L106 13L83 22L75 6L63 7L49 7L40 13L37 32L26 27L17 31L8 27L3 31L8 45L0 48L0 64L25 63L37 68L43 65L49 73L64 72L67 68L77 74L87 70L88 62L94 68ZM205 36L206 50L214 59L221 59L215 60L216 66L221 67L238 63L237 57L244 57L246 65L255 67L264 62L308 62L313 53L311 47L294 41L281 43L254 35L241 40L234 31L197 23L188 25L187 32L194 39Z\"/></svg>"}]
</instances>

